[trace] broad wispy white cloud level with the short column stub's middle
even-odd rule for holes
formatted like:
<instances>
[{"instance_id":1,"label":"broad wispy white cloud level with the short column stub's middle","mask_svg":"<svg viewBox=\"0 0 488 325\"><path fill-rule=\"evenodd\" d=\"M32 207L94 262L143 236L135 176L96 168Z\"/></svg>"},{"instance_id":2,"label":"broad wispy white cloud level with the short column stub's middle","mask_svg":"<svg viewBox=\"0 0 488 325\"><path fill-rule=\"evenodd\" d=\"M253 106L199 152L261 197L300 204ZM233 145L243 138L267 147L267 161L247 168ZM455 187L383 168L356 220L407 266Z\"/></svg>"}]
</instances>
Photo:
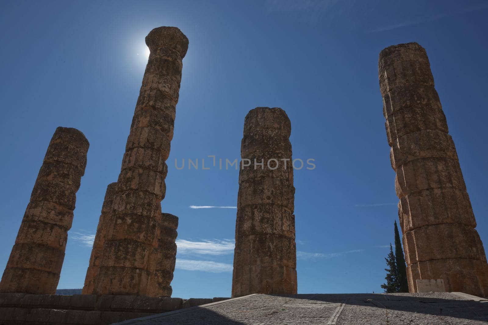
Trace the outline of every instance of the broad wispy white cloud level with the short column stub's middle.
<instances>
[{"instance_id":1,"label":"broad wispy white cloud level with the short column stub's middle","mask_svg":"<svg viewBox=\"0 0 488 325\"><path fill-rule=\"evenodd\" d=\"M232 239L202 240L199 242L177 239L178 254L224 255L234 252L235 241Z\"/></svg>"}]
</instances>

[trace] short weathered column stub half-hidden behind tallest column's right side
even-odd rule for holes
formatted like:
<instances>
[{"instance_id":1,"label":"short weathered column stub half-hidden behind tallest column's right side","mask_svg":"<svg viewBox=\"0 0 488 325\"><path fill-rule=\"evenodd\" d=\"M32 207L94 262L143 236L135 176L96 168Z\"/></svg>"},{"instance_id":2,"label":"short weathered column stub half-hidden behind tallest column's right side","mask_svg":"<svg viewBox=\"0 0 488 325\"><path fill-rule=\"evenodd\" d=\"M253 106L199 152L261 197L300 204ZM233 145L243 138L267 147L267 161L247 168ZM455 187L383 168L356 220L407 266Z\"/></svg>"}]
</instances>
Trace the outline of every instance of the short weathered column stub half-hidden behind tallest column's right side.
<instances>
[{"instance_id":1,"label":"short weathered column stub half-hidden behind tallest column's right side","mask_svg":"<svg viewBox=\"0 0 488 325\"><path fill-rule=\"evenodd\" d=\"M161 214L161 228L158 245L149 256L154 274L149 278L147 295L149 297L171 297L173 272L176 263L176 237L178 236L178 217L169 213Z\"/></svg>"}]
</instances>

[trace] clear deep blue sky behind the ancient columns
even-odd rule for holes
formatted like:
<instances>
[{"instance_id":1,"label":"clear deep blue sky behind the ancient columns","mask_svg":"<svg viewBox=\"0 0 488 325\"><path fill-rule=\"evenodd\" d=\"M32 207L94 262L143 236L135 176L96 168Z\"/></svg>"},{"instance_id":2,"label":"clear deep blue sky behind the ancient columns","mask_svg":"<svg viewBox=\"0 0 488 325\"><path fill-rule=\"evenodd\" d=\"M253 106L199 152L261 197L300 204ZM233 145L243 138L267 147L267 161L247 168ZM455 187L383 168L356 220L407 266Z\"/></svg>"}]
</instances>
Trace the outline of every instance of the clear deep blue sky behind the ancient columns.
<instances>
[{"instance_id":1,"label":"clear deep blue sky behind the ancient columns","mask_svg":"<svg viewBox=\"0 0 488 325\"><path fill-rule=\"evenodd\" d=\"M488 1L10 1L0 13L0 268L57 126L90 141L59 288L80 288L103 195L117 181L147 61L144 37L177 26L190 44L164 212L180 218L173 297L230 296L244 116L282 107L292 124L299 293L381 292L398 199L378 54L427 49L488 247L485 133ZM200 168L175 168L175 159ZM201 169L201 161L209 170Z\"/></svg>"}]
</instances>

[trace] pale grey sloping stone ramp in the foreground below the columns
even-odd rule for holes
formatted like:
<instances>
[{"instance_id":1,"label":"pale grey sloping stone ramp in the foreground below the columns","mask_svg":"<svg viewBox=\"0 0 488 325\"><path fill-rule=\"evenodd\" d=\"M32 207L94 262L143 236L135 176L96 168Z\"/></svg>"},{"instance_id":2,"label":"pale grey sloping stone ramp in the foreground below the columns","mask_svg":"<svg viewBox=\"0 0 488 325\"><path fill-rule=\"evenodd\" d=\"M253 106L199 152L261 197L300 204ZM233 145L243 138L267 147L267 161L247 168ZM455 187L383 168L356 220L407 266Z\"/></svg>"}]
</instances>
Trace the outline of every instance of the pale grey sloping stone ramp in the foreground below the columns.
<instances>
[{"instance_id":1,"label":"pale grey sloping stone ramp in the foreground below the columns","mask_svg":"<svg viewBox=\"0 0 488 325\"><path fill-rule=\"evenodd\" d=\"M118 323L156 324L487 324L488 300L463 293L254 294Z\"/></svg>"}]
</instances>

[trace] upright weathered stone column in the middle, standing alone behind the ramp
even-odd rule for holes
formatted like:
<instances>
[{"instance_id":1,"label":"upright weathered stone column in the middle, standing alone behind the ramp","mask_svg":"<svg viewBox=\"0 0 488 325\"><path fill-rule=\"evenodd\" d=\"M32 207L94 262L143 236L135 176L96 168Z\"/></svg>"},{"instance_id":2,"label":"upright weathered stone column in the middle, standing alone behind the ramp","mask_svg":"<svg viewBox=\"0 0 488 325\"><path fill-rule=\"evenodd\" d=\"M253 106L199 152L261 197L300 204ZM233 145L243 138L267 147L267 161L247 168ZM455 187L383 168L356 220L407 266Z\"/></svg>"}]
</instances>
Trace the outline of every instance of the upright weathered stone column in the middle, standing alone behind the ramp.
<instances>
[{"instance_id":1,"label":"upright weathered stone column in the middle, standing alone behind the ramp","mask_svg":"<svg viewBox=\"0 0 488 325\"><path fill-rule=\"evenodd\" d=\"M233 297L297 293L290 133L281 108L256 107L245 117Z\"/></svg>"}]
</instances>

